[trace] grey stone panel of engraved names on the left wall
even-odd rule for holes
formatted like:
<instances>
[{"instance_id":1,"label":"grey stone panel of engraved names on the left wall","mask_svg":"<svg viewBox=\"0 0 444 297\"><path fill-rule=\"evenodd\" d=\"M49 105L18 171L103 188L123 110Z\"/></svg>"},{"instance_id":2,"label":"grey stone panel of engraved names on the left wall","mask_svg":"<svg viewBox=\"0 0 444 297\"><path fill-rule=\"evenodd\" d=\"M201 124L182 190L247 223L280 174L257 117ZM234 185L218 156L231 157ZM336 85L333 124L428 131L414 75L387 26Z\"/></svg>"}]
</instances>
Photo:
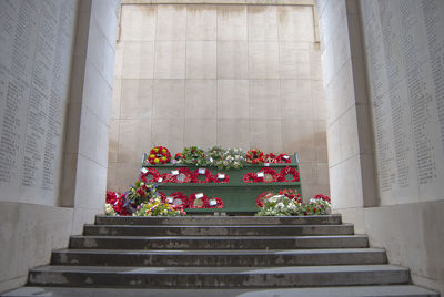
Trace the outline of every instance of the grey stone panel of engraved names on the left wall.
<instances>
[{"instance_id":1,"label":"grey stone panel of engraved names on the left wall","mask_svg":"<svg viewBox=\"0 0 444 297\"><path fill-rule=\"evenodd\" d=\"M0 1L0 199L57 205L77 1Z\"/></svg>"}]
</instances>

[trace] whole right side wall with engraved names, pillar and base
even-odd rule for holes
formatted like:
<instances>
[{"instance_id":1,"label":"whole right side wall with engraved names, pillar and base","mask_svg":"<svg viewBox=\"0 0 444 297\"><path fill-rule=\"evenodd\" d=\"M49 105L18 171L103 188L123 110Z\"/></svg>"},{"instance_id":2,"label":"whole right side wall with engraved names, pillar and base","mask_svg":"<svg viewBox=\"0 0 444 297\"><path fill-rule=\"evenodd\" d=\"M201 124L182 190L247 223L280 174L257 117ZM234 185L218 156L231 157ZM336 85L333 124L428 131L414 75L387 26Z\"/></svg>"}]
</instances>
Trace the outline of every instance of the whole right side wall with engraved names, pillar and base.
<instances>
[{"instance_id":1,"label":"whole right side wall with engraved names, pillar and base","mask_svg":"<svg viewBox=\"0 0 444 297\"><path fill-rule=\"evenodd\" d=\"M316 1L332 203L444 293L442 1ZM438 45L440 44L440 45ZM441 69L436 71L437 69Z\"/></svg>"}]
</instances>

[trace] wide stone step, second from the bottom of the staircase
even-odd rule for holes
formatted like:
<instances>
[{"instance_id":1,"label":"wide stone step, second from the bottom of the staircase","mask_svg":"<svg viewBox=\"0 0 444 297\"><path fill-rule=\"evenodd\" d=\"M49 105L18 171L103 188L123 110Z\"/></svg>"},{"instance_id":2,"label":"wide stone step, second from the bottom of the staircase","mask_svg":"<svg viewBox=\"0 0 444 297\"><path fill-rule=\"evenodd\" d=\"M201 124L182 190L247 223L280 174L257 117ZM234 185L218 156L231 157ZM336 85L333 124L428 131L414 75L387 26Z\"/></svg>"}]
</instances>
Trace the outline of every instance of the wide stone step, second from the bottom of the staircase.
<instances>
[{"instance_id":1,"label":"wide stone step, second from the bottom of the staircase","mask_svg":"<svg viewBox=\"0 0 444 297\"><path fill-rule=\"evenodd\" d=\"M42 266L29 273L31 286L186 288L322 287L398 285L408 270L393 265L287 267L115 267Z\"/></svg>"}]
</instances>

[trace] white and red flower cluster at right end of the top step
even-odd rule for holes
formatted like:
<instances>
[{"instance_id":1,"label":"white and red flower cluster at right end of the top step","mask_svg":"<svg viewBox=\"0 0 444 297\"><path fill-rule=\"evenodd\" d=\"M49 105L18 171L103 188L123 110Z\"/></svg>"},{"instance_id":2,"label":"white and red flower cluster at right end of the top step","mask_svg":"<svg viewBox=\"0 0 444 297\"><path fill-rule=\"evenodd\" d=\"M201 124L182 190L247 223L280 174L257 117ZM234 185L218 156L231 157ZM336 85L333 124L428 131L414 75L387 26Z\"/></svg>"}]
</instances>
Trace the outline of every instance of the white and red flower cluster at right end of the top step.
<instances>
[{"instance_id":1,"label":"white and red flower cluster at right end of the top step","mask_svg":"<svg viewBox=\"0 0 444 297\"><path fill-rule=\"evenodd\" d=\"M311 198L304 204L285 195L274 195L263 199L258 216L309 216L327 215L331 213L330 203L323 198Z\"/></svg>"}]
</instances>

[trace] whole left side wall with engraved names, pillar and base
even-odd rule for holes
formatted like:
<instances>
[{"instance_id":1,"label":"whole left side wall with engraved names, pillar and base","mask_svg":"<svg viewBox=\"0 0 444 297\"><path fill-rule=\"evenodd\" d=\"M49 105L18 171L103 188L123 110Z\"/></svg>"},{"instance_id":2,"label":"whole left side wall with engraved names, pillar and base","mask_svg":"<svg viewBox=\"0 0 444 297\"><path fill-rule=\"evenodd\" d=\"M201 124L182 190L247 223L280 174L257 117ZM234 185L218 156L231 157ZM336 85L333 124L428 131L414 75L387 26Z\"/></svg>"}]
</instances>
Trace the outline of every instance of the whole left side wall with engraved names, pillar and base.
<instances>
[{"instance_id":1,"label":"whole left side wall with engraved names, pillar and base","mask_svg":"<svg viewBox=\"0 0 444 297\"><path fill-rule=\"evenodd\" d=\"M119 8L0 2L0 293L103 213Z\"/></svg>"}]
</instances>

